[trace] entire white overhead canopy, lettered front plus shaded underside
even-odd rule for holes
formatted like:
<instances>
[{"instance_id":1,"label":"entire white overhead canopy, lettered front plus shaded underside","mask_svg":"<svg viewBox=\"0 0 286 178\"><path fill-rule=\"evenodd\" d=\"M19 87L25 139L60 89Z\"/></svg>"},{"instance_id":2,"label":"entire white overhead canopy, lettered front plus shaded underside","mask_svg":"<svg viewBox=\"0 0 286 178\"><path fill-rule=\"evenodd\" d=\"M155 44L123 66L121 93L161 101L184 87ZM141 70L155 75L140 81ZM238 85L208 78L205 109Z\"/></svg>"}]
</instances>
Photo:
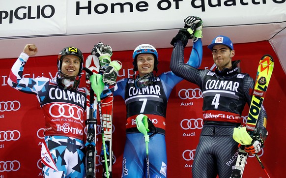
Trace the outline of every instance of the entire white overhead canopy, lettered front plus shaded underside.
<instances>
[{"instance_id":1,"label":"entire white overhead canopy, lettered front plus shaded underside","mask_svg":"<svg viewBox=\"0 0 286 178\"><path fill-rule=\"evenodd\" d=\"M1 58L18 57L27 43L38 46L38 56L66 46L90 53L98 42L114 51L143 43L170 48L190 15L203 20L203 45L226 35L234 44L270 41L280 60L286 55L279 49L286 0L0 0Z\"/></svg>"}]
</instances>

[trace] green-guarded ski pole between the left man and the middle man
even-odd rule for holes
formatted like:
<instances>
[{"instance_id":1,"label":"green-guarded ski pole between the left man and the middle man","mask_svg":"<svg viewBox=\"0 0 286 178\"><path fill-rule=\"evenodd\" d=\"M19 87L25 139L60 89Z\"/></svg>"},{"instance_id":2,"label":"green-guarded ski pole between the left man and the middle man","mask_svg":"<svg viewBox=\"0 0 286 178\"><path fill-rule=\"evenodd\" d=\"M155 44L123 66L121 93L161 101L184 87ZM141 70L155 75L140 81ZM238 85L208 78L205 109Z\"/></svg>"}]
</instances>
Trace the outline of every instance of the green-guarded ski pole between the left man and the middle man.
<instances>
[{"instance_id":1,"label":"green-guarded ski pole between the left man and the middle man","mask_svg":"<svg viewBox=\"0 0 286 178\"><path fill-rule=\"evenodd\" d=\"M106 146L105 146L105 139L104 139L103 119L102 119L102 112L101 112L101 99L100 99L100 95L104 89L104 83L102 82L102 75L93 74L92 76L90 76L90 81L91 81L91 87L97 96L97 105L98 105L100 127L101 127L101 133L102 133L102 145L103 145L103 152L104 152L105 168L106 170L108 170ZM106 172L106 174L107 174L106 177L109 178L108 171Z\"/></svg>"}]
</instances>

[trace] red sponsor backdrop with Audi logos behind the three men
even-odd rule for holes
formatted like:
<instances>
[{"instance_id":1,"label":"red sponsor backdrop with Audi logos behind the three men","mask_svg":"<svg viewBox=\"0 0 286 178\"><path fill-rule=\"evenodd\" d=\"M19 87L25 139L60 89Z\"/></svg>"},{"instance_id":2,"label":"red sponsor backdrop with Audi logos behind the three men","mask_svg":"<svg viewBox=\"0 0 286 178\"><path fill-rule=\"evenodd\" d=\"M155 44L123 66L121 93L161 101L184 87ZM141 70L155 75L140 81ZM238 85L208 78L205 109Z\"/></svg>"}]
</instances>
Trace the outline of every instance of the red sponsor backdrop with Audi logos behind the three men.
<instances>
[{"instance_id":1,"label":"red sponsor backdrop with Audi logos behind the three men","mask_svg":"<svg viewBox=\"0 0 286 178\"><path fill-rule=\"evenodd\" d=\"M23 46L24 48L24 46ZM282 112L286 102L286 75L268 42L235 44L234 60L241 60L242 72L256 76L259 59L270 54L275 60L274 72L264 100L268 114L267 129L269 136L265 148L259 154L262 163L271 177L284 175L284 147L286 117ZM45 50L45 49L39 49ZM211 69L211 52L203 47L203 59L200 68ZM185 52L189 58L191 48ZM20 52L17 52L20 54ZM114 52L113 60L123 64L118 80L131 77L133 51ZM158 74L170 70L172 49L158 49ZM88 54L85 54L87 57ZM49 77L57 72L57 56L30 58L25 67L25 77ZM40 168L40 150L43 139L44 119L35 96L19 92L7 85L10 69L16 59L0 59L0 178L38 178L42 176ZM84 79L83 76L82 79ZM85 84L82 80L81 86ZM188 95L189 94L189 95ZM283 104L284 103L284 104ZM202 98L198 86L187 81L180 82L173 90L167 109L166 142L168 154L168 177L192 177L192 163L201 130ZM247 119L248 106L243 118ZM121 177L121 161L125 142L126 111L124 101L114 97L114 133L113 150L116 162L113 177ZM189 125L188 125L189 122ZM191 126L190 126L191 123ZM98 135L97 150L100 152L101 136ZM224 147L222 145L222 147ZM226 148L228 149L228 148ZM149 158L156 159L156 158ZM101 177L102 166L97 161L97 177ZM266 178L255 157L248 159L244 178Z\"/></svg>"}]
</instances>

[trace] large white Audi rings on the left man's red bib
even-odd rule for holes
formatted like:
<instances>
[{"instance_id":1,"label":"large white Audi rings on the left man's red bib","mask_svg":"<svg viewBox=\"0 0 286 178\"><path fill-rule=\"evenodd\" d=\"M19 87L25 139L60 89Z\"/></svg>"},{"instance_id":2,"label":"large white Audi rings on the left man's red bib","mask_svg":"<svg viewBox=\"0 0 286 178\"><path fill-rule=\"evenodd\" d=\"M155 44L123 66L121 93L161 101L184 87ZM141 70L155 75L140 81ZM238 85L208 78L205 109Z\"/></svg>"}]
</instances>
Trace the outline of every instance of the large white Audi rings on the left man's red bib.
<instances>
[{"instance_id":1,"label":"large white Audi rings on the left man's red bib","mask_svg":"<svg viewBox=\"0 0 286 178\"><path fill-rule=\"evenodd\" d=\"M54 103L50 106L49 113L54 118L73 118L84 122L84 110L75 105Z\"/></svg>"}]
</instances>

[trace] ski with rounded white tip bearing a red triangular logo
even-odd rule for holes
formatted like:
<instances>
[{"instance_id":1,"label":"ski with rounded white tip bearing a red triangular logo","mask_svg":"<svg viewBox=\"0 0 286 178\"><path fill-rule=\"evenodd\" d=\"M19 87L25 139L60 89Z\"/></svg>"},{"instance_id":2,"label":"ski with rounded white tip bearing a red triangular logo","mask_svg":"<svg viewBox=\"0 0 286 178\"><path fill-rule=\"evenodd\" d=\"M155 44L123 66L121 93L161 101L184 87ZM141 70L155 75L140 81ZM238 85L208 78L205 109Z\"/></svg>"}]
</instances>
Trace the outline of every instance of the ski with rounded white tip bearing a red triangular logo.
<instances>
[{"instance_id":1,"label":"ski with rounded white tip bearing a red triangular logo","mask_svg":"<svg viewBox=\"0 0 286 178\"><path fill-rule=\"evenodd\" d=\"M97 103L94 91L91 88L90 76L99 73L99 59L94 55L86 58L86 178L95 178L96 157L96 116ZM95 102L94 102L95 101Z\"/></svg>"}]
</instances>

